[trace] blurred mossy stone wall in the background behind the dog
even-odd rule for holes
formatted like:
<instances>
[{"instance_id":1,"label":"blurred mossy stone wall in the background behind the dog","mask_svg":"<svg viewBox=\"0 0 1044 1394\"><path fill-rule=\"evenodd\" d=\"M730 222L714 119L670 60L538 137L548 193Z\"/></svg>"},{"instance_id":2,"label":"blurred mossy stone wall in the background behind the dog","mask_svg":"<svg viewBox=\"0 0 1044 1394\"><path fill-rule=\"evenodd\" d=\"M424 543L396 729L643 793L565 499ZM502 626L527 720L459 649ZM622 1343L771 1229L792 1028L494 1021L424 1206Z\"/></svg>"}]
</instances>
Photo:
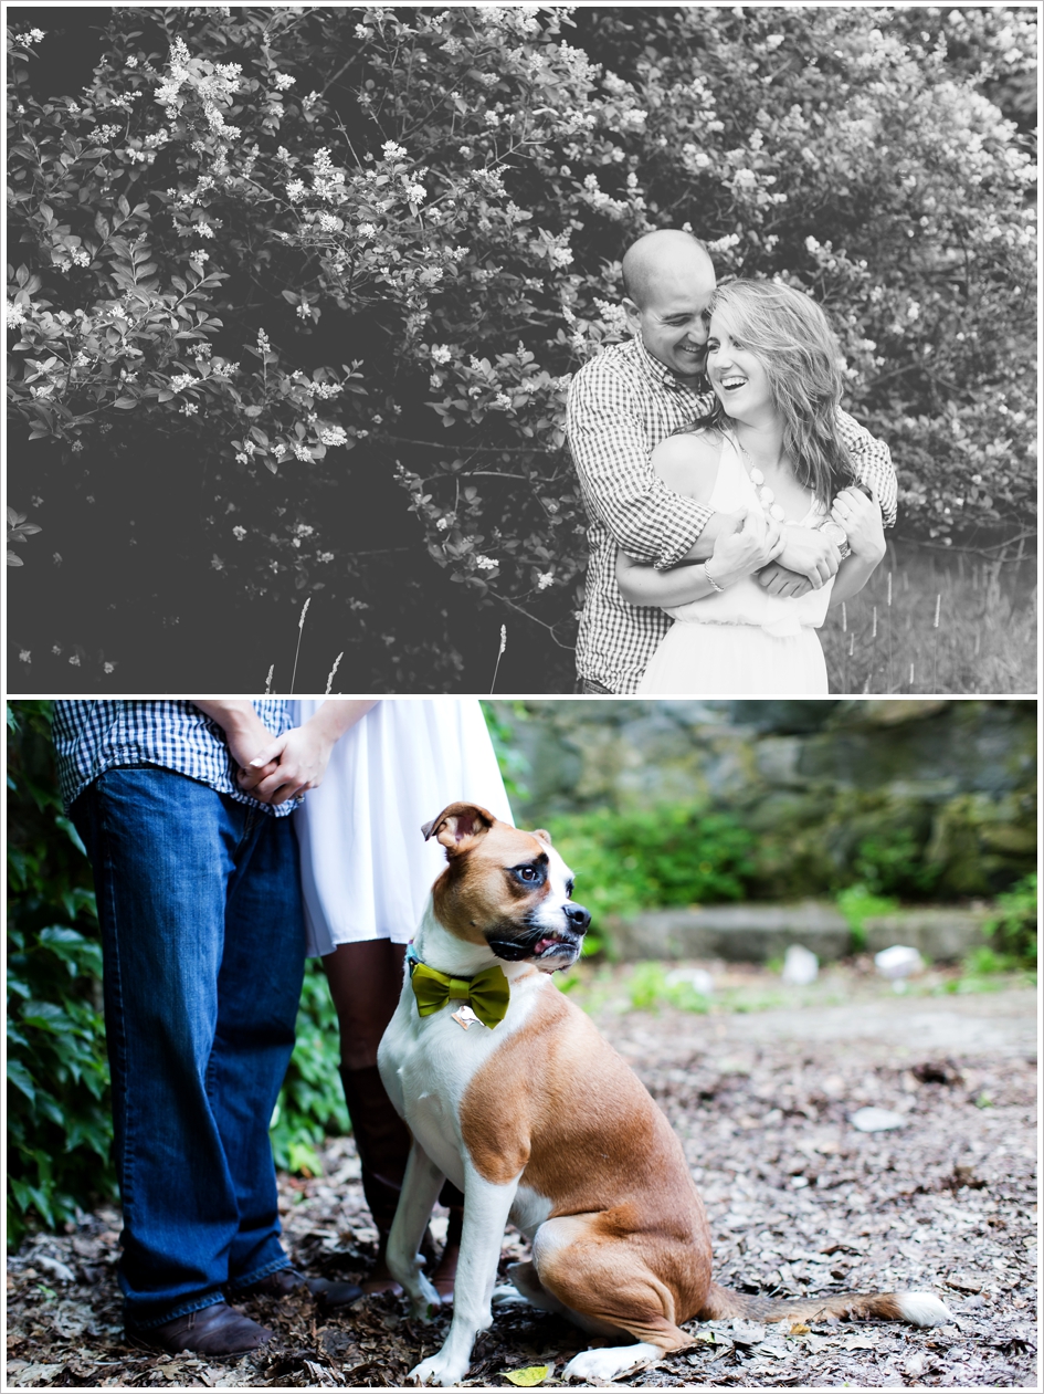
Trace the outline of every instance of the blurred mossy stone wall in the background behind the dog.
<instances>
[{"instance_id":1,"label":"blurred mossy stone wall in the background behind the dog","mask_svg":"<svg viewBox=\"0 0 1044 1394\"><path fill-rule=\"evenodd\" d=\"M853 881L992 895L1036 864L1030 701L530 701L513 722L532 822L594 807L726 809L757 836L751 894Z\"/></svg>"}]
</instances>

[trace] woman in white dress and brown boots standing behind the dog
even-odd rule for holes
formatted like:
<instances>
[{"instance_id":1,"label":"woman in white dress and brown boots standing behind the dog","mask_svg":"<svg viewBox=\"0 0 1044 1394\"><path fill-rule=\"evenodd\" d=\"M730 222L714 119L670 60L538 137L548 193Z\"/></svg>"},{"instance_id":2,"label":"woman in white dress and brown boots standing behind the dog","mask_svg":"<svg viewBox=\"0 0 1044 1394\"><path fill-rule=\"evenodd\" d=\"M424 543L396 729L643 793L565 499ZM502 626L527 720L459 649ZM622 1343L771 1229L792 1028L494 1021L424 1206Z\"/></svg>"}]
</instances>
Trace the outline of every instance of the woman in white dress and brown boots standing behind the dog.
<instances>
[{"instance_id":1,"label":"woman in white dress and brown boots standing behind the dog","mask_svg":"<svg viewBox=\"0 0 1044 1394\"><path fill-rule=\"evenodd\" d=\"M514 820L475 698L302 700L294 707L291 719L315 733L316 768L325 767L294 824L307 952L322 955L337 1011L340 1076L379 1236L376 1267L362 1289L399 1291L385 1245L410 1133L381 1083L376 1048L399 1002L406 945L446 864L421 825L457 799ZM262 756L272 760L273 750ZM440 1199L450 1218L433 1282L449 1298L464 1197L446 1184Z\"/></svg>"}]
</instances>

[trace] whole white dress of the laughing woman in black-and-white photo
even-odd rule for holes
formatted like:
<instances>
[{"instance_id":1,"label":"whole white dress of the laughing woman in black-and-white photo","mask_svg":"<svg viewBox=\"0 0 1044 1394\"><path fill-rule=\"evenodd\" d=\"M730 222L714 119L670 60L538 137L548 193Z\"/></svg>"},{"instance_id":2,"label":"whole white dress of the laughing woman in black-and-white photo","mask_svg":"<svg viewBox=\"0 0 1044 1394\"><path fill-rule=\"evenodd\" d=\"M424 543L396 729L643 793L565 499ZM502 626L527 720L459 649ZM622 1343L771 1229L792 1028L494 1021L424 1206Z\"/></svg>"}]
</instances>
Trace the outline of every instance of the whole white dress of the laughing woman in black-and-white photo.
<instances>
[{"instance_id":1,"label":"whole white dress of the laughing woman in black-and-white photo","mask_svg":"<svg viewBox=\"0 0 1044 1394\"><path fill-rule=\"evenodd\" d=\"M715 513L761 507L739 449L725 436L708 500ZM825 517L815 500L801 519L814 527ZM815 633L827 618L834 579L799 597L769 595L754 576L722 594L668 609L666 631L638 683L643 696L824 696L827 662Z\"/></svg>"}]
</instances>

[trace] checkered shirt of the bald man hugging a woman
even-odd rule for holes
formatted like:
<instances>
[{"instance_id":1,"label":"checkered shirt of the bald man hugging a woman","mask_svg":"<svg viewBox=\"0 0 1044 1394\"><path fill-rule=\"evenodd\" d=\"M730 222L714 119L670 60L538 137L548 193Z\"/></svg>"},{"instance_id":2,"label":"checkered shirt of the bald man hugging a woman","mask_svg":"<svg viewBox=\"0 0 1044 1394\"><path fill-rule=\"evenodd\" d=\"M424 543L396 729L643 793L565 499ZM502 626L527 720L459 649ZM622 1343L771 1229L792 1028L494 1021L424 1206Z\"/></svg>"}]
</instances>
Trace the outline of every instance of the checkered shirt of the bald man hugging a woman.
<instances>
[{"instance_id":1,"label":"checkered shirt of the bald man hugging a woman","mask_svg":"<svg viewBox=\"0 0 1044 1394\"><path fill-rule=\"evenodd\" d=\"M590 552L577 672L612 693L637 690L672 623L662 609L623 599L616 549L665 570L696 542L712 510L669 489L650 456L712 401L709 392L679 382L637 336L604 348L570 383L566 436L587 507ZM896 498L891 452L845 411L838 420L853 467L877 489L891 527Z\"/></svg>"}]
</instances>

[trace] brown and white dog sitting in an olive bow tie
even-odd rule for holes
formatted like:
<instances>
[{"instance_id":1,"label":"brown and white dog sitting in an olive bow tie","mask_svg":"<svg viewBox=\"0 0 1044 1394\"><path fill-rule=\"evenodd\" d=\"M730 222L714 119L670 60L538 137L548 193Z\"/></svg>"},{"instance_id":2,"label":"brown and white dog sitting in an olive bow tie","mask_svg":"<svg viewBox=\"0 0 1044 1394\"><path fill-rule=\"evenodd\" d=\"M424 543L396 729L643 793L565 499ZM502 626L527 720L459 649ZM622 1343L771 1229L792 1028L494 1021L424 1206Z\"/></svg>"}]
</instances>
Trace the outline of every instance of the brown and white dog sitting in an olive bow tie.
<instances>
[{"instance_id":1,"label":"brown and white dog sitting in an olive bow tie","mask_svg":"<svg viewBox=\"0 0 1044 1394\"><path fill-rule=\"evenodd\" d=\"M470 803L443 809L424 834L449 864L415 959L454 979L499 962L510 1001L492 1029L449 1006L421 1016L407 969L381 1041L381 1076L414 1138L387 1263L418 1317L439 1305L417 1250L443 1177L464 1192L453 1320L414 1380L445 1386L467 1374L475 1335L492 1323L509 1220L532 1242L531 1262L509 1270L519 1294L591 1334L631 1337L569 1362L566 1377L592 1384L691 1345L682 1323L693 1317L952 1320L928 1292L772 1301L712 1282L707 1216L677 1138L549 977L576 960L590 923L551 838Z\"/></svg>"}]
</instances>

